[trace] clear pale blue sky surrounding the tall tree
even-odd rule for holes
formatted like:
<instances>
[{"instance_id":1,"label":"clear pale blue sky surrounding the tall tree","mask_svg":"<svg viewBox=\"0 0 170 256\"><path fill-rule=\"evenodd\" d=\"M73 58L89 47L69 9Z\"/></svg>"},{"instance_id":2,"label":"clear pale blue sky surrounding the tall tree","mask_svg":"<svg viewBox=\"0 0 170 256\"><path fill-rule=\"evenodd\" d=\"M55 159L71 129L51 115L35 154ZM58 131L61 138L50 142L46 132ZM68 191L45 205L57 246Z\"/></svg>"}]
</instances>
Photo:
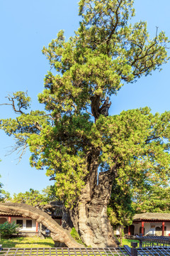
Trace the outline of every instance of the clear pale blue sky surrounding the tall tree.
<instances>
[{"instance_id":1,"label":"clear pale blue sky surrounding the tall tree","mask_svg":"<svg viewBox=\"0 0 170 256\"><path fill-rule=\"evenodd\" d=\"M74 35L79 26L77 3L78 0L0 1L0 103L6 102L9 92L28 90L32 108L43 107L38 103L37 95L43 90L43 78L49 66L41 50L61 29L67 38ZM170 38L169 0L135 0L135 9L134 21L147 21L152 37L158 26L159 31L165 31ZM168 111L170 63L162 68L161 73L156 71L135 84L122 87L112 99L110 114L145 106L151 107L153 113ZM0 119L9 117L15 117L11 107L0 106ZM19 163L17 154L6 156L14 141L1 130L0 137L0 181L6 191L12 195L29 188L41 190L52 183L45 176L45 170L30 167L29 152Z\"/></svg>"}]
</instances>

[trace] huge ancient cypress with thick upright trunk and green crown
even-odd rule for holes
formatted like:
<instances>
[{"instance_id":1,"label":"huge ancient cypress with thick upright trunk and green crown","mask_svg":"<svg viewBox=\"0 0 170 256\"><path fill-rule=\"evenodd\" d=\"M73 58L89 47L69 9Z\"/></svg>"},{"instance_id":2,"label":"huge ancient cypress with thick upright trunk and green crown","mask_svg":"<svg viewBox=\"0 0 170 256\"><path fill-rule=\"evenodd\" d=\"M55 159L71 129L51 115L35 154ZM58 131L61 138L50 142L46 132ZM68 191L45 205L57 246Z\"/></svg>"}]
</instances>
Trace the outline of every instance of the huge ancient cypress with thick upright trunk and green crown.
<instances>
[{"instance_id":1,"label":"huge ancient cypress with thick upright trunk and green crown","mask_svg":"<svg viewBox=\"0 0 170 256\"><path fill-rule=\"evenodd\" d=\"M50 62L30 111L23 92L8 96L16 119L1 120L17 146L30 147L30 164L46 168L86 245L115 245L107 216L113 183L123 193L169 181L170 113L148 107L108 115L111 95L167 62L164 32L149 38L147 23L130 23L133 0L81 0L81 22L68 41L64 31L43 48ZM114 196L112 195L112 200Z\"/></svg>"}]
</instances>

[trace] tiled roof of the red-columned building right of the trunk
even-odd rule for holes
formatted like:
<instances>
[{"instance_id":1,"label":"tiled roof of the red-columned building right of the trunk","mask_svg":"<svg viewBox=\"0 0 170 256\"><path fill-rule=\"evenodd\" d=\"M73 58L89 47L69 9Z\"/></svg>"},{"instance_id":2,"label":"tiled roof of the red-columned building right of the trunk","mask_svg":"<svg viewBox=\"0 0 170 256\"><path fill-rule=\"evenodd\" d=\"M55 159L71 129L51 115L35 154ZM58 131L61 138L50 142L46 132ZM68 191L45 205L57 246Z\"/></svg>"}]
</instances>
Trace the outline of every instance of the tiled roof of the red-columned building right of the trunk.
<instances>
[{"instance_id":1,"label":"tiled roof of the red-columned building right of the trunk","mask_svg":"<svg viewBox=\"0 0 170 256\"><path fill-rule=\"evenodd\" d=\"M140 213L135 214L133 220L170 220L170 213Z\"/></svg>"}]
</instances>

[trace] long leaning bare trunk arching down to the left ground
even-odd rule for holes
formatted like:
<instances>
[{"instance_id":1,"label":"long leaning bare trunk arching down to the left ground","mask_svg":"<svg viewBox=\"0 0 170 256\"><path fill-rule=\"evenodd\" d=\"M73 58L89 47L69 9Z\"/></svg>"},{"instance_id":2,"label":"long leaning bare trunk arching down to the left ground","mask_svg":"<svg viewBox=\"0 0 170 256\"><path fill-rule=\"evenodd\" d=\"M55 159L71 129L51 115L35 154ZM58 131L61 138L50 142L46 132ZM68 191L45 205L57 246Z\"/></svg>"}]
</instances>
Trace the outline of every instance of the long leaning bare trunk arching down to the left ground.
<instances>
[{"instance_id":1,"label":"long leaning bare trunk arching down to the left ground","mask_svg":"<svg viewBox=\"0 0 170 256\"><path fill-rule=\"evenodd\" d=\"M36 220L38 223L42 223L45 227L50 230L52 240L55 241L55 245L65 245L67 247L84 247L72 238L72 236L58 225L50 215L42 210L39 210L33 206L28 206L25 203L0 203L1 211L13 215L20 214L23 217L29 217Z\"/></svg>"}]
</instances>

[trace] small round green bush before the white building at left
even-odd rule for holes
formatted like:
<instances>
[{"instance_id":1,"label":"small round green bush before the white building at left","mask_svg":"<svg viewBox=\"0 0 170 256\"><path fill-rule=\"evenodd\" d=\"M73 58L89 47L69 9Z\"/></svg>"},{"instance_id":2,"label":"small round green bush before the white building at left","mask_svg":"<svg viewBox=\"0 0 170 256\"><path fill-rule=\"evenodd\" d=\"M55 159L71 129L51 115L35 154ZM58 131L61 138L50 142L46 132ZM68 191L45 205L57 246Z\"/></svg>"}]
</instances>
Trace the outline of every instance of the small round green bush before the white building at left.
<instances>
[{"instance_id":1,"label":"small round green bush before the white building at left","mask_svg":"<svg viewBox=\"0 0 170 256\"><path fill-rule=\"evenodd\" d=\"M19 225L14 221L13 223L8 223L6 221L4 224L0 224L0 233L3 238L10 238L11 235L18 233Z\"/></svg>"}]
</instances>

